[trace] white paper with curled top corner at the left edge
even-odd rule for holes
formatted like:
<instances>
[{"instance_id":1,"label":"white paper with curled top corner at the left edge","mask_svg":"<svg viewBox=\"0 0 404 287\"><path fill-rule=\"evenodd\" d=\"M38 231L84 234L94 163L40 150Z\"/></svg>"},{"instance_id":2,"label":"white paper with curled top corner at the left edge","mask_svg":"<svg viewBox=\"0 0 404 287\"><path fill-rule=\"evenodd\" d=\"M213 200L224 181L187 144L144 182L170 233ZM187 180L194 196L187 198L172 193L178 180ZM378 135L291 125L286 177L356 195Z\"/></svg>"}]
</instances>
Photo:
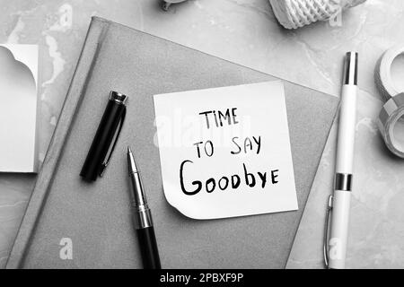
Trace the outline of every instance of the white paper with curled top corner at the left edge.
<instances>
[{"instance_id":1,"label":"white paper with curled top corner at the left edge","mask_svg":"<svg viewBox=\"0 0 404 287\"><path fill-rule=\"evenodd\" d=\"M0 45L0 172L37 171L38 46Z\"/></svg>"}]
</instances>

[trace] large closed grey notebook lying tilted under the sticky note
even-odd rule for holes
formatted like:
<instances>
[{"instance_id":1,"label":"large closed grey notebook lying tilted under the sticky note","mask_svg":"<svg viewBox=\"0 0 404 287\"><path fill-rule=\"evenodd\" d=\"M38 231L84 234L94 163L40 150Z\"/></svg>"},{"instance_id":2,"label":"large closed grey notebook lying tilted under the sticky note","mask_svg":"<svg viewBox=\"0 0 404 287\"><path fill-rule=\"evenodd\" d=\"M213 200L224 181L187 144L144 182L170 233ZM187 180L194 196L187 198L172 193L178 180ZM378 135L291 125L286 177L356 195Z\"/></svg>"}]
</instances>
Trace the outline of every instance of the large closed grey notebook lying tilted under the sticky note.
<instances>
[{"instance_id":1,"label":"large closed grey notebook lying tilted under the sticky note","mask_svg":"<svg viewBox=\"0 0 404 287\"><path fill-rule=\"evenodd\" d=\"M128 144L143 171L163 267L285 267L337 98L284 81L297 212L186 218L164 199L154 145L153 95L271 80L278 79L93 18L7 267L142 267L129 204ZM104 177L88 184L79 173L111 90L129 96L127 119ZM72 260L60 257L63 239L72 240Z\"/></svg>"}]
</instances>

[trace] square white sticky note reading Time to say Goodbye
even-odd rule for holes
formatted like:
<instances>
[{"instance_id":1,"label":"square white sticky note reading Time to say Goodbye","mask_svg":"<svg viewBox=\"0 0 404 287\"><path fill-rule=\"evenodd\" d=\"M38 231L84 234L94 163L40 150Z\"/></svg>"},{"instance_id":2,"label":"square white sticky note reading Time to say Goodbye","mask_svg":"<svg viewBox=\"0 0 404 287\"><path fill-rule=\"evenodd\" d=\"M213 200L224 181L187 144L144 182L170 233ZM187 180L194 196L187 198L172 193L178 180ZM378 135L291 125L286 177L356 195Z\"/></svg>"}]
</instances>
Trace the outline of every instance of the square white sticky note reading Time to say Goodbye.
<instances>
[{"instance_id":1,"label":"square white sticky note reading Time to say Goodbye","mask_svg":"<svg viewBox=\"0 0 404 287\"><path fill-rule=\"evenodd\" d=\"M198 220L297 210L280 81L154 96L164 195Z\"/></svg>"}]
</instances>

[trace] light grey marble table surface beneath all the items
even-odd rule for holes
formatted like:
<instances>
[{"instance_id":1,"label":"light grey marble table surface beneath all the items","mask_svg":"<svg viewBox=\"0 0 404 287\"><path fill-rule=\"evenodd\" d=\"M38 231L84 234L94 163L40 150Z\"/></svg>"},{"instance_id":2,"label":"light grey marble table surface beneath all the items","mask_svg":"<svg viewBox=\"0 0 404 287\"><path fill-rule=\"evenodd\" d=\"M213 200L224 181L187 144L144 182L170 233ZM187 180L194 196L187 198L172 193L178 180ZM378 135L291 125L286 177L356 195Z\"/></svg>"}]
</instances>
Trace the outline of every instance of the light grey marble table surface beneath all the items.
<instances>
[{"instance_id":1,"label":"light grey marble table surface beneath all the items","mask_svg":"<svg viewBox=\"0 0 404 287\"><path fill-rule=\"evenodd\" d=\"M40 160L57 124L92 15L127 24L338 97L342 57L360 54L353 193L347 267L404 267L404 161L382 143L382 107L373 69L404 43L404 2L368 0L300 30L284 30L268 0L189 0L163 13L157 0L0 0L0 43L40 45ZM337 24L337 25L336 25ZM336 126L329 135L291 253L289 268L322 268L326 202L332 192ZM13 244L35 176L0 174L0 267Z\"/></svg>"}]
</instances>

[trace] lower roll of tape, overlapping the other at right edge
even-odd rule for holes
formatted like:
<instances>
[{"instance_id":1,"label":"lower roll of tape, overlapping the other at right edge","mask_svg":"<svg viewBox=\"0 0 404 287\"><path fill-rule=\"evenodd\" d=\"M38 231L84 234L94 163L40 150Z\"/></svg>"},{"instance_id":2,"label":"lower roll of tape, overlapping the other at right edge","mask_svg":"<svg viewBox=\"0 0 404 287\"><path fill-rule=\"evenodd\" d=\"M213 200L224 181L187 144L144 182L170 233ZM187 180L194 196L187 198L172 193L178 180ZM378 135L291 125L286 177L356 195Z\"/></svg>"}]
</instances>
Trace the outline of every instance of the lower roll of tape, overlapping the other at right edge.
<instances>
[{"instance_id":1,"label":"lower roll of tape, overlapping the other at right edge","mask_svg":"<svg viewBox=\"0 0 404 287\"><path fill-rule=\"evenodd\" d=\"M392 97L379 115L379 129L391 152L404 158L404 93Z\"/></svg>"}]
</instances>

